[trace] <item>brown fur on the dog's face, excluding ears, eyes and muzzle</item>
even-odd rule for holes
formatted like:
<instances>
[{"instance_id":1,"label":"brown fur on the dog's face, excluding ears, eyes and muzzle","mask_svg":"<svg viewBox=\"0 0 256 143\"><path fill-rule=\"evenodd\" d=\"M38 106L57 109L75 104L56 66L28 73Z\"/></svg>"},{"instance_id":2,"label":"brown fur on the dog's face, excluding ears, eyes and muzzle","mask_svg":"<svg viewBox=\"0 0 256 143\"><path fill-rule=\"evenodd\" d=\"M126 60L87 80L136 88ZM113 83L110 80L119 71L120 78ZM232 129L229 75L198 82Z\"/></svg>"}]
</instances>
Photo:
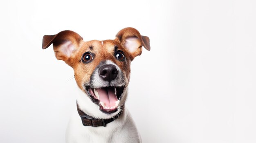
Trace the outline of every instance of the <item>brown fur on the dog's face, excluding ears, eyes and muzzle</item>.
<instances>
[{"instance_id":1,"label":"brown fur on the dog's face, excluding ears, eyes and muzzle","mask_svg":"<svg viewBox=\"0 0 256 143\"><path fill-rule=\"evenodd\" d=\"M117 64L126 77L126 83L128 83L128 79L130 78L130 57L128 51L115 40L105 40L103 43L104 44L102 45L101 41L98 40L83 42L80 44L81 46L72 58L72 67L74 69L76 83L82 90L84 90L83 84L90 82L90 77L95 68L101 61L105 60L111 60L113 63ZM93 50L90 46L94 47ZM124 55L126 56L125 61L119 61L115 58L115 46L117 46L117 50L124 52ZM91 62L84 64L81 62L81 58L86 52L92 53L94 57Z\"/></svg>"}]
</instances>

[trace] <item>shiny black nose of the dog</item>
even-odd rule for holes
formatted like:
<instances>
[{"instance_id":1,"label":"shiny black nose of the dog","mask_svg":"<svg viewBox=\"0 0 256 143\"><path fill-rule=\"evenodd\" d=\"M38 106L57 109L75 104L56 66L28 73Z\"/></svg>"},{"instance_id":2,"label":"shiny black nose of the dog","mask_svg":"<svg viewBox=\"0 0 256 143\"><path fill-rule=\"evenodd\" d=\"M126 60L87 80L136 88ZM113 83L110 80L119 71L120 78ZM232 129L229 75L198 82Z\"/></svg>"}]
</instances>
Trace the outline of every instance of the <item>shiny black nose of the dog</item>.
<instances>
[{"instance_id":1,"label":"shiny black nose of the dog","mask_svg":"<svg viewBox=\"0 0 256 143\"><path fill-rule=\"evenodd\" d=\"M116 66L112 64L106 64L99 68L99 76L105 81L112 81L116 79L118 70Z\"/></svg>"}]
</instances>

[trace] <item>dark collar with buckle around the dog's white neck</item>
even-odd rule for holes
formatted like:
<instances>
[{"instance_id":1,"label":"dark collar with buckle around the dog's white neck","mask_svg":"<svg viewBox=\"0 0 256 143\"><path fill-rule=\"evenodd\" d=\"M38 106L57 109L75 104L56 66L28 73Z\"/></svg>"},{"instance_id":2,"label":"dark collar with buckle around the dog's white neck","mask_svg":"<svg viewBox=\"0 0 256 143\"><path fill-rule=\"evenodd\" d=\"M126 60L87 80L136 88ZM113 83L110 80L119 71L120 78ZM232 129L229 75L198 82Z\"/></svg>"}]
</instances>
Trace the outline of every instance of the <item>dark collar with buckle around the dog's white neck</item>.
<instances>
[{"instance_id":1,"label":"dark collar with buckle around the dog's white neck","mask_svg":"<svg viewBox=\"0 0 256 143\"><path fill-rule=\"evenodd\" d=\"M88 114L85 114L82 110L80 110L77 103L76 103L76 108L77 108L78 114L80 115L80 117L82 119L82 123L84 126L92 126L92 127L104 126L104 127L106 127L107 123L114 121L115 119L117 119L119 117L119 115L122 114L122 112L119 112L115 117L110 118L110 119L96 119L96 118L89 116Z\"/></svg>"}]
</instances>

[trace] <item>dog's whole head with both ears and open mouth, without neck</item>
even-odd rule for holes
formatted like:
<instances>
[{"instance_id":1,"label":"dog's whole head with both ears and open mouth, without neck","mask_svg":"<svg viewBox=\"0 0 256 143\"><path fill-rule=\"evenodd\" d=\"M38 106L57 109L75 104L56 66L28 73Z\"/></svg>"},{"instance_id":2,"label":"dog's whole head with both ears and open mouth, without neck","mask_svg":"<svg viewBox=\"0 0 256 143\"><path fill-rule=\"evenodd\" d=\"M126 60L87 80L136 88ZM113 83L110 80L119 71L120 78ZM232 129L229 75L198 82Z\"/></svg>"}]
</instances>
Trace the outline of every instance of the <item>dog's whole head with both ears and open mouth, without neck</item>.
<instances>
[{"instance_id":1,"label":"dog's whole head with both ears and open mouth, without neck","mask_svg":"<svg viewBox=\"0 0 256 143\"><path fill-rule=\"evenodd\" d=\"M119 31L115 40L84 42L73 31L45 35L43 49L51 44L56 58L74 69L77 85L104 114L117 114L124 106L130 63L141 55L142 46L150 50L149 38L130 27Z\"/></svg>"}]
</instances>

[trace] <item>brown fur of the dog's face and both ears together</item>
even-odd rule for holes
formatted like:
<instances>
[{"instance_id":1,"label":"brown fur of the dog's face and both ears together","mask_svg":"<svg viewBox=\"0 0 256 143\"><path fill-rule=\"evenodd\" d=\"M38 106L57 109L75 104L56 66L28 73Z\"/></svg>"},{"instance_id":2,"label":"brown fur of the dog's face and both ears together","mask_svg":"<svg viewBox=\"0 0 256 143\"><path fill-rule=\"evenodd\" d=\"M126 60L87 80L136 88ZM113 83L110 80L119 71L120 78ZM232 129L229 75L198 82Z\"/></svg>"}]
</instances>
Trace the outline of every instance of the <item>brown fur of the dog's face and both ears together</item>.
<instances>
[{"instance_id":1,"label":"brown fur of the dog's face and both ears together","mask_svg":"<svg viewBox=\"0 0 256 143\"><path fill-rule=\"evenodd\" d=\"M128 37L138 38L138 47L133 52L128 51L125 47L126 39ZM75 48L70 54L63 53L59 48L66 42L71 42L72 46ZM95 68L101 61L105 60L111 60L119 66L125 75L125 82L127 85L130 79L131 61L137 55L141 55L142 46L148 51L150 50L149 38L147 36L141 36L139 31L131 27L122 29L117 33L115 40L105 40L103 41L103 44L102 41L98 40L84 42L83 38L73 31L61 31L56 35L45 35L43 37L42 48L45 49L51 44L54 46L56 58L65 61L74 69L76 83L81 90L84 90L83 85L85 83L90 82L90 77ZM124 56L126 57L125 61L116 59L115 47L117 47L117 50L124 52ZM86 52L92 53L93 59L91 62L83 63L81 59Z\"/></svg>"}]
</instances>

